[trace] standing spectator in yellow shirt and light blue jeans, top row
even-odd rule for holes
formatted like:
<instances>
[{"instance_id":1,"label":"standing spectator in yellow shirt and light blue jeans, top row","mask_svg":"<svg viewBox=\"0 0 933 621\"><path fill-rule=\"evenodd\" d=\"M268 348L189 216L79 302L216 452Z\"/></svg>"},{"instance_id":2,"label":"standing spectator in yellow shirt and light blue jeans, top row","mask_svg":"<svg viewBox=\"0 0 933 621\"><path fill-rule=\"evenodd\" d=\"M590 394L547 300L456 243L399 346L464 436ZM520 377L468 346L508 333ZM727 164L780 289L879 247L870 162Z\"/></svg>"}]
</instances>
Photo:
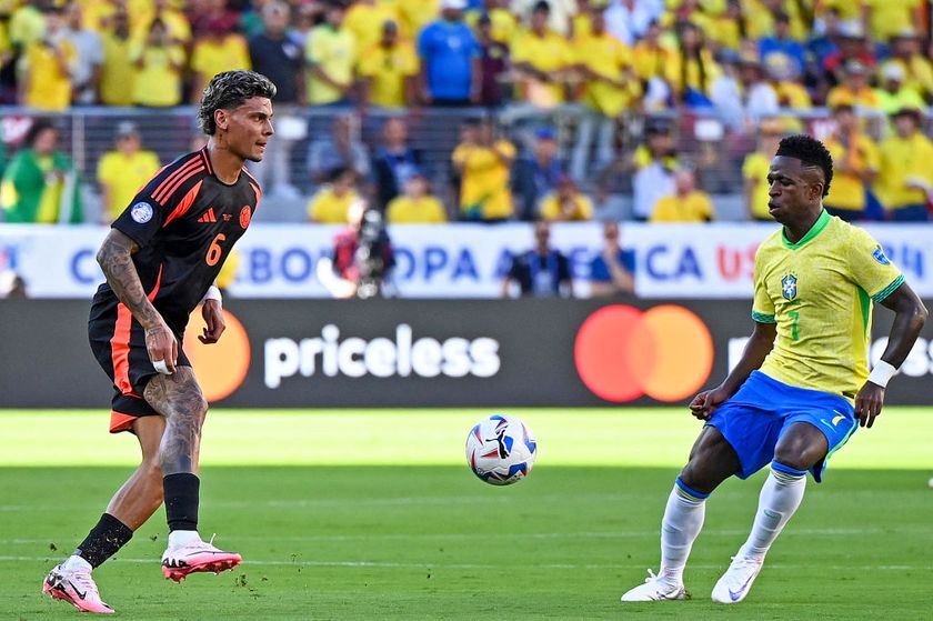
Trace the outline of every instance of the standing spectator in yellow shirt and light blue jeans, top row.
<instances>
[{"instance_id":1,"label":"standing spectator in yellow shirt and light blue jeans, top row","mask_svg":"<svg viewBox=\"0 0 933 621\"><path fill-rule=\"evenodd\" d=\"M571 173L574 179L586 176L586 164L604 168L612 161L615 119L638 103L641 84L632 71L632 52L605 30L603 2L593 2L590 10L590 33L573 41L575 68L583 78L585 112L576 128ZM595 158L590 156L596 134Z\"/></svg>"}]
</instances>

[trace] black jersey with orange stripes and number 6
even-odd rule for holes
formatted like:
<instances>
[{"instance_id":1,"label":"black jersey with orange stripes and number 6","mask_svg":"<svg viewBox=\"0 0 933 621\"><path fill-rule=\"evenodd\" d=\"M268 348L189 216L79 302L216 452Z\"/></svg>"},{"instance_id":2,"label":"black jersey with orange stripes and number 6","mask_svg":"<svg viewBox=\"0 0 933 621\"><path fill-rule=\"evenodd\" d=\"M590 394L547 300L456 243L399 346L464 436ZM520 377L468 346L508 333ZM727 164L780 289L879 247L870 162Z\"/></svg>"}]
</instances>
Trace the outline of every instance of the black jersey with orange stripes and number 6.
<instances>
[{"instance_id":1,"label":"black jersey with orange stripes and number 6","mask_svg":"<svg viewBox=\"0 0 933 621\"><path fill-rule=\"evenodd\" d=\"M113 222L139 246L133 254L139 279L175 333L184 331L261 197L245 168L232 186L220 181L204 148L157 172ZM97 298L107 297L116 300L103 283Z\"/></svg>"}]
</instances>

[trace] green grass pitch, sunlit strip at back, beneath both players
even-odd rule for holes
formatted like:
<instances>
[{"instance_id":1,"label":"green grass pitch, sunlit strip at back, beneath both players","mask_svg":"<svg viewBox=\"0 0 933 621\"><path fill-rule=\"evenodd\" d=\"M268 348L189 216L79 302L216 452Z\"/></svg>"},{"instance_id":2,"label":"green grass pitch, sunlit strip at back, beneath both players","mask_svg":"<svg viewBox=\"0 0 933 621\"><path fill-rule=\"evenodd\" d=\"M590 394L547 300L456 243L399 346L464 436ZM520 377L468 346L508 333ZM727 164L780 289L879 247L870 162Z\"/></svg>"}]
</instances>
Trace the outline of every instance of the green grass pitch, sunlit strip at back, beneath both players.
<instances>
[{"instance_id":1,"label":"green grass pitch, sunlit strip at back, beneath both players","mask_svg":"<svg viewBox=\"0 0 933 621\"><path fill-rule=\"evenodd\" d=\"M473 410L215 411L202 533L237 571L164 580L160 510L96 572L118 618L930 619L933 409L885 410L837 453L749 599L710 602L748 534L761 477L712 497L685 602L622 604L658 565L668 493L700 423L684 410L514 410L538 434L530 479L465 465ZM41 597L132 470L103 412L0 411L0 619L78 614Z\"/></svg>"}]
</instances>

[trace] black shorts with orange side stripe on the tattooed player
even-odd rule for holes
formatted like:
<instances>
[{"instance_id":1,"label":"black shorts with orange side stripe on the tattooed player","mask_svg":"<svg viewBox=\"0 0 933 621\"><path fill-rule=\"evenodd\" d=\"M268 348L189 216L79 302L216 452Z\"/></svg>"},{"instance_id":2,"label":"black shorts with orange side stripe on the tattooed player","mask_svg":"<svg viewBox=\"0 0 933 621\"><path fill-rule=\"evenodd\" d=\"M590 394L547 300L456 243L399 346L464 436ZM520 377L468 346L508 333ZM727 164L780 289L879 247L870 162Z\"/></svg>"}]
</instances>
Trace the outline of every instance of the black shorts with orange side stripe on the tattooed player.
<instances>
[{"instance_id":1,"label":"black shorts with orange side stripe on the tattooed player","mask_svg":"<svg viewBox=\"0 0 933 621\"><path fill-rule=\"evenodd\" d=\"M181 349L182 335L174 337L179 343L178 365L190 367ZM158 373L146 350L146 331L112 293L94 296L88 338L94 358L113 382L110 432L129 431L139 417L158 414L142 398L146 384Z\"/></svg>"}]
</instances>

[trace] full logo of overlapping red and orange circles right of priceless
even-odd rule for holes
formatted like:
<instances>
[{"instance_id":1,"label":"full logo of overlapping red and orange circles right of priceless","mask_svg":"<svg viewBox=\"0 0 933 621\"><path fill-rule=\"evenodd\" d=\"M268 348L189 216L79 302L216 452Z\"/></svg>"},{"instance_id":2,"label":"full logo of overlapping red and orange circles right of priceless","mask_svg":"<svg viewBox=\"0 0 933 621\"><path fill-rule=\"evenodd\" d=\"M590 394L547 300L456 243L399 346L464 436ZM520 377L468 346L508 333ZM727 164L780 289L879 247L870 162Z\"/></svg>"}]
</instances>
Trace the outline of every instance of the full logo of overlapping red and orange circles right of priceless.
<instances>
[{"instance_id":1,"label":"full logo of overlapping red and orange circles right of priceless","mask_svg":"<svg viewBox=\"0 0 933 621\"><path fill-rule=\"evenodd\" d=\"M580 379L595 395L615 402L692 397L710 378L713 353L706 324L673 304L648 311L602 308L586 318L574 344Z\"/></svg>"}]
</instances>

